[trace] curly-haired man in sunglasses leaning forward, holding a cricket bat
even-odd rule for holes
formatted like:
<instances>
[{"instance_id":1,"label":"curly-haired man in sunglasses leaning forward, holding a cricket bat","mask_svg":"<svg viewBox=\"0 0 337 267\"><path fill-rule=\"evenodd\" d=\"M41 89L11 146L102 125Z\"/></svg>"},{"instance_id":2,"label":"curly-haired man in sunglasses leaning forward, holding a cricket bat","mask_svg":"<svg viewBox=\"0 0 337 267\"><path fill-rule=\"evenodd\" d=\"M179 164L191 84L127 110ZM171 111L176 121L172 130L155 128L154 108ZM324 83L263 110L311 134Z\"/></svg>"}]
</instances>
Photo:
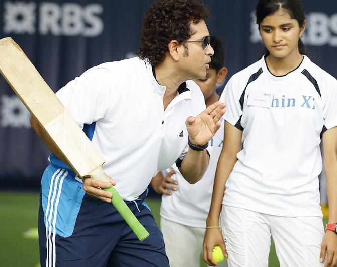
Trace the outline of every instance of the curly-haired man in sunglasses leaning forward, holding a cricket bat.
<instances>
[{"instance_id":1,"label":"curly-haired man in sunglasses leaning forward, holding a cricket bat","mask_svg":"<svg viewBox=\"0 0 337 267\"><path fill-rule=\"evenodd\" d=\"M139 57L76 77L58 98L102 153L109 183L79 179L52 149L42 177L41 266L168 266L163 236L144 198L151 178L176 162L189 183L203 176L206 147L225 105L205 109L191 81L206 76L213 49L197 0L161 0L144 15ZM32 119L33 128L44 133ZM111 205L114 185L150 233L140 242Z\"/></svg>"}]
</instances>

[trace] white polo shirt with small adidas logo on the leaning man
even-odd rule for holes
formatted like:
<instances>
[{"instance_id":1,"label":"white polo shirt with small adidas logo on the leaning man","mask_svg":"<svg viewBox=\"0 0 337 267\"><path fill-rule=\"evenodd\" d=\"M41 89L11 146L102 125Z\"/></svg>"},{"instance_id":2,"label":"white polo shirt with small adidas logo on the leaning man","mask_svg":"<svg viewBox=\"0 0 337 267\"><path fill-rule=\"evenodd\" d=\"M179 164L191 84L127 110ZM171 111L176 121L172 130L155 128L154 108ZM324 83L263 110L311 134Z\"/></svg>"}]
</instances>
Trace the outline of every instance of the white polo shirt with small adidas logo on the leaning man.
<instances>
[{"instance_id":1,"label":"white polo shirt with small adidas logo on the leaning man","mask_svg":"<svg viewBox=\"0 0 337 267\"><path fill-rule=\"evenodd\" d=\"M135 57L95 66L57 92L102 153L103 170L125 200L136 199L158 171L185 156L185 120L205 109L203 94L193 81L179 87L166 110L165 90L152 66ZM61 164L54 155L51 163Z\"/></svg>"}]
</instances>

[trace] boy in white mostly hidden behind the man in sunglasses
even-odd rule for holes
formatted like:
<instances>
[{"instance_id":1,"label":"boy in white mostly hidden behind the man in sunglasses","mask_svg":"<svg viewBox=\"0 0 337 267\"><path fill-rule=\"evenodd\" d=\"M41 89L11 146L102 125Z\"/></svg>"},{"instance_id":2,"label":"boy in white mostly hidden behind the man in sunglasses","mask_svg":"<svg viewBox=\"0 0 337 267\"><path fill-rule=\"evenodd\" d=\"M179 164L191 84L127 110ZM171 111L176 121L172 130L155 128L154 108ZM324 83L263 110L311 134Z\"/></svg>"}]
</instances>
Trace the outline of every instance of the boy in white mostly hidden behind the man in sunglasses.
<instances>
[{"instance_id":1,"label":"boy in white mostly hidden behind the man in sunglasses","mask_svg":"<svg viewBox=\"0 0 337 267\"><path fill-rule=\"evenodd\" d=\"M206 107L219 100L220 95L216 92L216 84L221 84L228 72L223 66L225 53L222 42L211 36L210 44L214 49L214 55L211 56L212 61L206 71L206 77L194 80L200 86ZM224 95L221 99L223 97ZM153 189L163 194L160 223L171 267L200 264L215 169L223 143L223 130L223 124L221 124L221 128L209 142L212 146L209 166L198 183L189 184L175 164L164 172L165 177L162 172L159 172L151 181ZM219 266L226 266L226 264Z\"/></svg>"}]
</instances>

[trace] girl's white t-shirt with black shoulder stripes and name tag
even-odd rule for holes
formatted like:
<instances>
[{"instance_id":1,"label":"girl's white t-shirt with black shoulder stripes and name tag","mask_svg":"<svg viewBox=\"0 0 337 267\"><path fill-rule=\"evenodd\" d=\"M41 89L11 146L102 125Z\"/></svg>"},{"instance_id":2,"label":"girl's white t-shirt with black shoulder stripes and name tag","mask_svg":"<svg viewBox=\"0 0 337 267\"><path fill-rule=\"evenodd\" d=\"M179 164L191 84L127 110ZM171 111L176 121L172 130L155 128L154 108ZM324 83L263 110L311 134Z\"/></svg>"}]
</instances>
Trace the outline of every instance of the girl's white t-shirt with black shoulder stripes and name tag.
<instances>
[{"instance_id":1,"label":"girl's white t-shirt with black shoulder stripes and name tag","mask_svg":"<svg viewBox=\"0 0 337 267\"><path fill-rule=\"evenodd\" d=\"M224 119L242 130L242 149L223 204L261 213L321 216L321 134L337 125L337 81L304 56L272 75L265 57L233 75Z\"/></svg>"}]
</instances>

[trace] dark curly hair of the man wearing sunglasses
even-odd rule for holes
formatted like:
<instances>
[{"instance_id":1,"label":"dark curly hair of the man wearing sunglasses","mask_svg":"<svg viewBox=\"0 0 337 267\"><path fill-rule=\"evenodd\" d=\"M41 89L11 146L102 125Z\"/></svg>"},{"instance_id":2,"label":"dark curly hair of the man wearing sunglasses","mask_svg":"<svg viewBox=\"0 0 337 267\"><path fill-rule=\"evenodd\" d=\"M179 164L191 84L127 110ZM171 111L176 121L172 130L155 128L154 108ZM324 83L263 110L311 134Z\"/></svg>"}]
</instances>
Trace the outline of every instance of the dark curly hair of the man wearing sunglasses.
<instances>
[{"instance_id":1,"label":"dark curly hair of the man wearing sunglasses","mask_svg":"<svg viewBox=\"0 0 337 267\"><path fill-rule=\"evenodd\" d=\"M199 0L160 0L155 2L143 17L140 48L137 55L148 59L155 66L164 61L168 43L188 40L190 23L199 23L209 16L208 10Z\"/></svg>"}]
</instances>

